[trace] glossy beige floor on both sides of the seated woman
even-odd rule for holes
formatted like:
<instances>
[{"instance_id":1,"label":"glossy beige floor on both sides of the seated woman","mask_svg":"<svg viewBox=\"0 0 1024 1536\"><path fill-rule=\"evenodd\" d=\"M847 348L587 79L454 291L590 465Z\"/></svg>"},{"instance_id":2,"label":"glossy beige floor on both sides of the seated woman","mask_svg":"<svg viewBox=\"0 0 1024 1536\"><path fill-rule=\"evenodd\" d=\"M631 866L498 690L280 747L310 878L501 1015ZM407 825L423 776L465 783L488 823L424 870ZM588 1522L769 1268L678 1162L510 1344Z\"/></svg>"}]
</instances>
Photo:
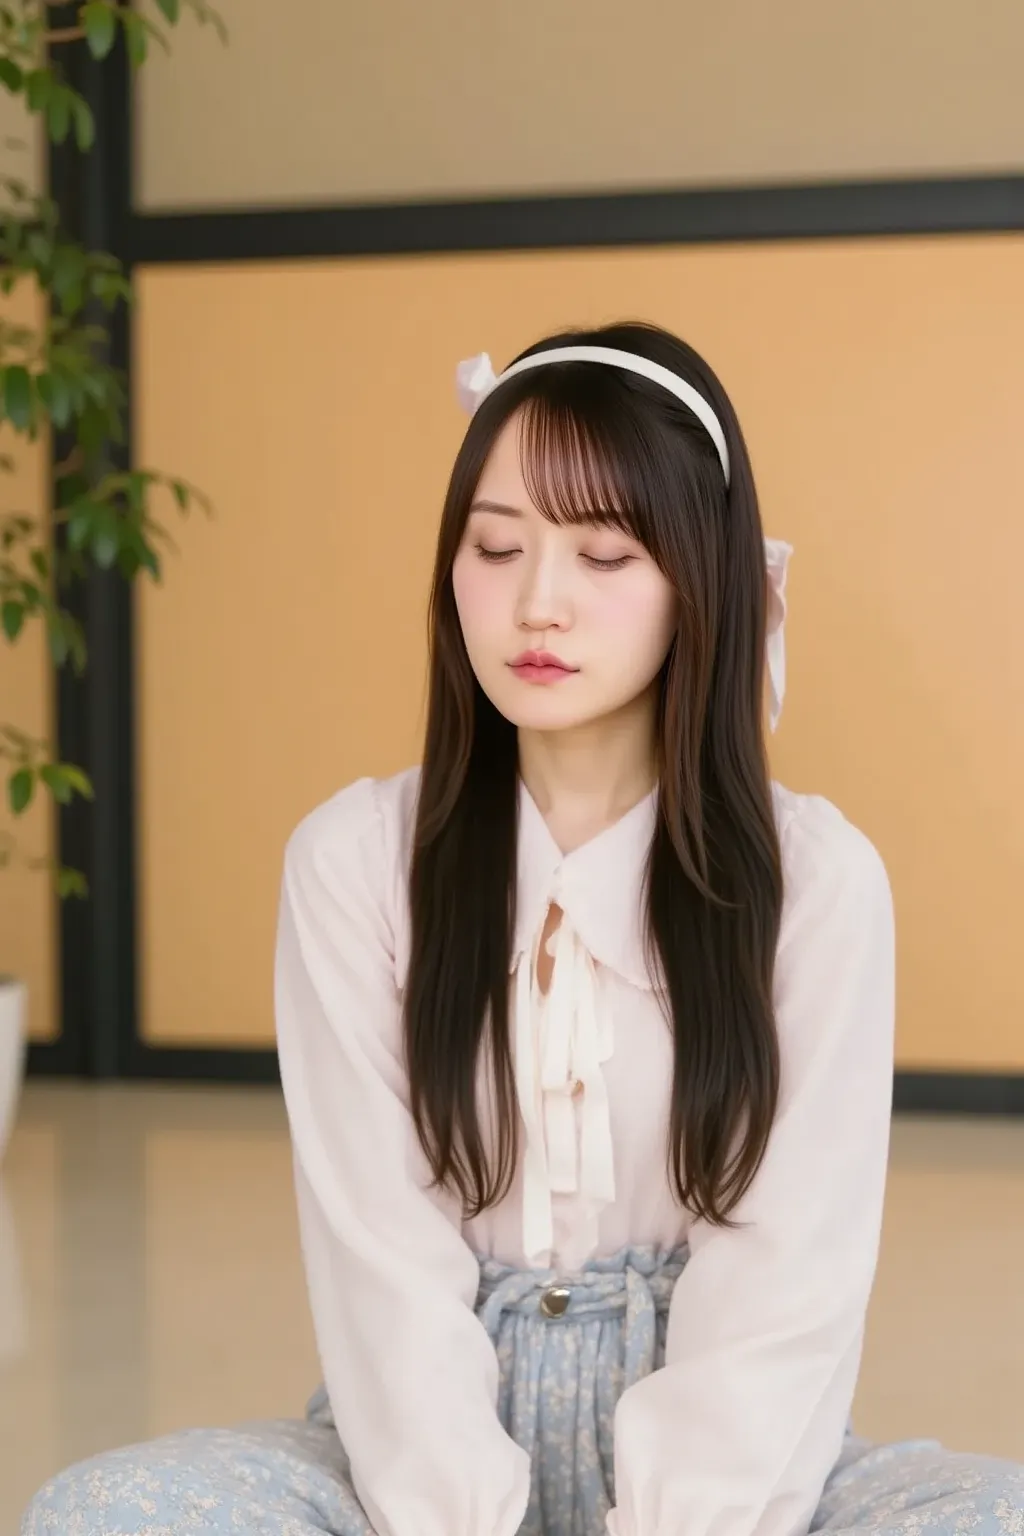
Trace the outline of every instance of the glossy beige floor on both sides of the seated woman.
<instances>
[{"instance_id":1,"label":"glossy beige floor on both sides of the seated woman","mask_svg":"<svg viewBox=\"0 0 1024 1536\"><path fill-rule=\"evenodd\" d=\"M0 1536L66 1462L301 1412L276 1092L32 1084L0 1175ZM897 1123L857 1422L1024 1461L1024 1121Z\"/></svg>"}]
</instances>

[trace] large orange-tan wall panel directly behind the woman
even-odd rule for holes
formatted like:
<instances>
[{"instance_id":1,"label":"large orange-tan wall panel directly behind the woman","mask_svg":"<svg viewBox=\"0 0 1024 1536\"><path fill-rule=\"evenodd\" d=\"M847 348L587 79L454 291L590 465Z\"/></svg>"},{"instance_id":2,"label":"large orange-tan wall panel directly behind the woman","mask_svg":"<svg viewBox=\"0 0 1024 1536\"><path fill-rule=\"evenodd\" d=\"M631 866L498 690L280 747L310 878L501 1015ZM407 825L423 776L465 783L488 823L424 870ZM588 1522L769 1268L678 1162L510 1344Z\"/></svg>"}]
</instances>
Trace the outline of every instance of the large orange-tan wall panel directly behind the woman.
<instances>
[{"instance_id":1,"label":"large orange-tan wall panel directly behind the woman","mask_svg":"<svg viewBox=\"0 0 1024 1536\"><path fill-rule=\"evenodd\" d=\"M777 768L889 863L903 1064L1024 1068L1022 273L1016 237L143 272L141 445L218 504L143 594L147 1037L270 1040L290 826L416 757L454 361L643 309L797 545Z\"/></svg>"}]
</instances>

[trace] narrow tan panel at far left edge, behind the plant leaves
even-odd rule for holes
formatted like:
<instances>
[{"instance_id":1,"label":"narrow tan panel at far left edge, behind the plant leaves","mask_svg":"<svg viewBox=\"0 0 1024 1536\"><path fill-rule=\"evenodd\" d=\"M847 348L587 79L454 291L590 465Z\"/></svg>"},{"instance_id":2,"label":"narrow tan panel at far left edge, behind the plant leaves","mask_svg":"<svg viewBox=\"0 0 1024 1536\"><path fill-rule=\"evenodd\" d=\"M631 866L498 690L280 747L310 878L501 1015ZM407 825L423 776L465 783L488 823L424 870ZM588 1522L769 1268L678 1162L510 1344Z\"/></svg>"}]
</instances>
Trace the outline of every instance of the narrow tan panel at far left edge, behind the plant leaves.
<instances>
[{"instance_id":1,"label":"narrow tan panel at far left edge, behind the plant leaves","mask_svg":"<svg viewBox=\"0 0 1024 1536\"><path fill-rule=\"evenodd\" d=\"M0 313L20 326L38 323L28 292L14 295ZM0 476L0 513L38 516L48 505L46 447L5 429L0 453L17 465L14 475ZM0 633L0 723L40 739L51 734L51 673L40 624L26 628L15 647ZM8 868L0 868L0 974L28 982L29 1034L49 1040L58 1028L55 897L51 876L31 860L54 854L52 809L43 796L15 820L8 809L8 771L0 759L0 846L9 846L8 839L15 845Z\"/></svg>"}]
</instances>

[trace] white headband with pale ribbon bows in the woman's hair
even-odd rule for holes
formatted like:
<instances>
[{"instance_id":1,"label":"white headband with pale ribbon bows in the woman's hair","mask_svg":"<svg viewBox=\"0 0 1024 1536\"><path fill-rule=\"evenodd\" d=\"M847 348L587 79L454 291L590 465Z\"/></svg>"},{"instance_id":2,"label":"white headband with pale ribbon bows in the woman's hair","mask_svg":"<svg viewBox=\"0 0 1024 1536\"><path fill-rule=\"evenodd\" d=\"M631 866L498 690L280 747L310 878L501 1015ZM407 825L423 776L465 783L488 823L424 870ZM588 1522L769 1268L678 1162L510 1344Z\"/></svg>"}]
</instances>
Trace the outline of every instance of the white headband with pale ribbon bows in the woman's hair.
<instances>
[{"instance_id":1,"label":"white headband with pale ribbon bows in the woman's hair","mask_svg":"<svg viewBox=\"0 0 1024 1536\"><path fill-rule=\"evenodd\" d=\"M628 369L631 373L640 373L654 384L660 384L677 399L682 399L685 406L689 406L694 416L705 427L718 450L725 482L726 485L729 484L729 449L725 441L722 422L708 401L692 384L679 378L677 373L663 369L660 362L651 362L649 358L633 352L619 352L614 347L553 347L548 352L534 352L531 356L513 362L504 373L494 373L488 353L481 352L474 358L465 358L456 369L454 379L459 402L464 410L473 415L505 379L514 378L517 373L525 373L527 369L543 367L548 362L605 362L611 367ZM786 619L786 574L791 554L791 544L785 544L781 539L765 539L765 561L768 568L766 662L771 693L769 723L772 731L778 725L786 694L786 642L783 624Z\"/></svg>"}]
</instances>

